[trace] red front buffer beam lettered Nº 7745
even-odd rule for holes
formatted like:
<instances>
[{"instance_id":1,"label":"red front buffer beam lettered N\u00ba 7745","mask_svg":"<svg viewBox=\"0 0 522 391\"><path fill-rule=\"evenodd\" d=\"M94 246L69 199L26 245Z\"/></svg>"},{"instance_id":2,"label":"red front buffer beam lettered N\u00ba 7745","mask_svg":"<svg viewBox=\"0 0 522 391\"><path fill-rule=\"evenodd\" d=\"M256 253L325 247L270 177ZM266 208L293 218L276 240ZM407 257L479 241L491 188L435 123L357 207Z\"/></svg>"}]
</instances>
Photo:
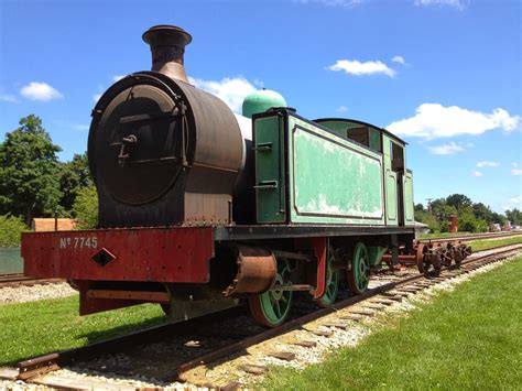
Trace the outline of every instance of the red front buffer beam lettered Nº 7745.
<instances>
[{"instance_id":1,"label":"red front buffer beam lettered N\u00ba 7745","mask_svg":"<svg viewBox=\"0 0 522 391\"><path fill-rule=\"evenodd\" d=\"M101 249L116 258L102 265ZM134 228L22 233L24 270L34 278L208 282L211 228Z\"/></svg>"}]
</instances>

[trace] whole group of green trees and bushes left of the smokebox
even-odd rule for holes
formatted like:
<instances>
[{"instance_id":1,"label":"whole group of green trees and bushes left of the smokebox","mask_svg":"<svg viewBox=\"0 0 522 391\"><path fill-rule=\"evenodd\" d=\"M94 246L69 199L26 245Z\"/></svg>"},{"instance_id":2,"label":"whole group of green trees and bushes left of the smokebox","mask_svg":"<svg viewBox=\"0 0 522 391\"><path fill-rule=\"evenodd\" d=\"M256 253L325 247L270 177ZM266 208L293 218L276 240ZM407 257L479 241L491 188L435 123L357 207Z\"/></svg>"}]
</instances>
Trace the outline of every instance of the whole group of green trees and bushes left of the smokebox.
<instances>
[{"instance_id":1,"label":"whole group of green trees and bushes left of the smokebox","mask_svg":"<svg viewBox=\"0 0 522 391\"><path fill-rule=\"evenodd\" d=\"M96 226L98 199L87 153L64 163L59 151L34 115L6 133L0 143L0 246L11 246L12 232L26 229L34 217L57 215L76 218L79 228Z\"/></svg>"}]
</instances>

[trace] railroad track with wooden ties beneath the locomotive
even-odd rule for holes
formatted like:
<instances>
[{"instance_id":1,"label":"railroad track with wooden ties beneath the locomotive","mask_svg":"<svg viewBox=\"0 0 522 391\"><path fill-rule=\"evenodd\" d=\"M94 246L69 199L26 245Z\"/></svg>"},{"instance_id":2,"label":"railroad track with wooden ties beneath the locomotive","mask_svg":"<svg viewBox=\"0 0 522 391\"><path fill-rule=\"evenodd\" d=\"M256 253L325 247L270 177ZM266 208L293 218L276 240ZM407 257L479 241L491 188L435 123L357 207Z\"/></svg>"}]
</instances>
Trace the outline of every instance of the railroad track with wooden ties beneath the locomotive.
<instances>
[{"instance_id":1,"label":"railroad track with wooden ties beneath the locomotive","mask_svg":"<svg viewBox=\"0 0 522 391\"><path fill-rule=\"evenodd\" d=\"M87 370L99 371L100 368L107 366L110 367L110 363L108 363L110 359L105 360L102 358L107 355L112 358L118 355L131 355L133 358L130 359L130 365L129 362L127 363L127 370L129 371L130 368L132 368L132 370L140 370L140 368L148 367L146 363L153 366L150 361L150 357L155 356L155 366L157 368L154 368L155 372L153 370L152 377L164 381L173 381L182 378L184 373L195 369L196 367L211 366L218 360L242 352L247 348L263 343L270 338L281 336L291 330L303 329L303 326L311 322L319 322L320 326L334 329L334 332L318 329L309 330L311 336L315 334L329 337L335 333L335 329L346 329L349 327L350 322L360 322L361 319L376 316L379 314L379 309L383 309L393 303L401 302L405 297L422 292L443 281L469 273L486 264L505 259L521 250L522 245L502 246L488 249L485 250L485 252L494 251L494 253L488 253L486 256L477 254L478 257L474 259L463 261L460 269L445 269L441 275L433 278L426 278L422 274L406 275L400 280L383 283L361 295L341 300L330 308L298 314L282 326L272 329L261 329L259 326L251 326L238 330L239 333L243 333L242 335L236 333L230 334L230 330L227 329L227 322L229 322L229 319L236 318L235 322L238 322L238 317L248 319L248 315L244 314L244 308L236 307L177 324L155 326L123 337L100 341L77 349L32 358L19 362L17 369L12 369L11 372L8 371L7 373L10 373L11 378L19 380L36 382L51 387L67 388L67 383L59 383L59 379L56 380L54 378L54 382L51 381L50 383L47 379L48 376L46 377L44 374L70 366L79 366ZM334 321L322 321L323 317L334 313ZM240 324L243 321L239 321ZM214 325L221 325L221 327L213 328ZM154 349L151 347L156 346L157 348L171 344L165 343L165 338L174 338L177 340L177 355L171 356L166 350L163 351L163 355L161 352L154 354ZM312 340L302 339L295 340L294 344L302 347L313 347L315 345ZM138 346L144 346L144 348L140 350L137 348ZM186 349L180 349L180 346L185 347ZM188 350L192 350L191 354L187 352ZM149 358L142 358L142 356L149 356ZM294 355L287 351L272 351L271 356L282 360L294 359ZM168 357L168 359L165 360L165 357ZM167 365L162 367L162 365L157 362L159 360L162 360L163 363L165 363L164 361L171 362L167 362ZM253 374L263 373L265 371L265 368L260 366L243 366L239 369ZM112 366L108 370L113 373L126 374L126 366L120 366L119 368L118 366ZM6 370L3 374L7 377ZM0 377L1 376L2 372L0 371ZM70 388L78 388L78 384L74 383Z\"/></svg>"}]
</instances>

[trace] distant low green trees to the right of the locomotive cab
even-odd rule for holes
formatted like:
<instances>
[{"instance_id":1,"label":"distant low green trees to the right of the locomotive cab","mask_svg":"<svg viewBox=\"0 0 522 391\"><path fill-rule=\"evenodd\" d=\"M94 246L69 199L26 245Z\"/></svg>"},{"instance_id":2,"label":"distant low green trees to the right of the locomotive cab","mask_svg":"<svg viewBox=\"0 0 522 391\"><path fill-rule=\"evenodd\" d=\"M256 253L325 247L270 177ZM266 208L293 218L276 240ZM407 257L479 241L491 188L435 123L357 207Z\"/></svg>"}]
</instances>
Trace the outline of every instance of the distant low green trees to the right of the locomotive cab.
<instances>
[{"instance_id":1,"label":"distant low green trees to the right of the locomotive cab","mask_svg":"<svg viewBox=\"0 0 522 391\"><path fill-rule=\"evenodd\" d=\"M522 213L518 209L507 210L505 216L492 211L482 203L474 203L464 194L452 194L446 198L436 198L427 208L415 205L415 220L426 224L433 232L449 230L448 217L458 217L458 230L467 232L486 232L491 224L504 226L508 220L512 225L522 224Z\"/></svg>"}]
</instances>

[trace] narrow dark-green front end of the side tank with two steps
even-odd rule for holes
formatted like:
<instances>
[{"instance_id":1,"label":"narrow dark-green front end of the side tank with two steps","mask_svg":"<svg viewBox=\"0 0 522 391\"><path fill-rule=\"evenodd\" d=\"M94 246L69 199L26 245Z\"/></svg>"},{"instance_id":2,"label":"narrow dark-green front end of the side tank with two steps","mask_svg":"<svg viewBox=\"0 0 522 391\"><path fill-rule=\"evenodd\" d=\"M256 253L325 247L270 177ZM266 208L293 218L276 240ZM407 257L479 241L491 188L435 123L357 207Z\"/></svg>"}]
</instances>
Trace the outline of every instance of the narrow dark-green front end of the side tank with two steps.
<instances>
[{"instance_id":1,"label":"narrow dark-green front end of the side tank with two steps","mask_svg":"<svg viewBox=\"0 0 522 391\"><path fill-rule=\"evenodd\" d=\"M284 222L286 213L282 118L273 116L255 119L253 131L258 222Z\"/></svg>"}]
</instances>

